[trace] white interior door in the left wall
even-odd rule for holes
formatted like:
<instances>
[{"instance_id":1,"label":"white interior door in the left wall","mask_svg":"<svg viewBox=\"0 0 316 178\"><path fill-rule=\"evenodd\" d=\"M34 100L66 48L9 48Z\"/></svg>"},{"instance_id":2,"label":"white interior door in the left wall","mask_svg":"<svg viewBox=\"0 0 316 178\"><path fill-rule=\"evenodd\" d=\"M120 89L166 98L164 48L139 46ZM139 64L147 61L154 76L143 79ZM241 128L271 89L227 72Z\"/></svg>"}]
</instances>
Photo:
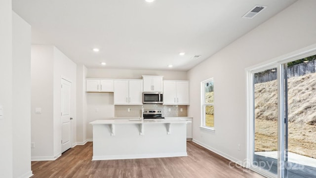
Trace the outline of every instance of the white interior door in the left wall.
<instances>
[{"instance_id":1,"label":"white interior door in the left wall","mask_svg":"<svg viewBox=\"0 0 316 178\"><path fill-rule=\"evenodd\" d=\"M71 82L61 79L62 152L71 148Z\"/></svg>"}]
</instances>

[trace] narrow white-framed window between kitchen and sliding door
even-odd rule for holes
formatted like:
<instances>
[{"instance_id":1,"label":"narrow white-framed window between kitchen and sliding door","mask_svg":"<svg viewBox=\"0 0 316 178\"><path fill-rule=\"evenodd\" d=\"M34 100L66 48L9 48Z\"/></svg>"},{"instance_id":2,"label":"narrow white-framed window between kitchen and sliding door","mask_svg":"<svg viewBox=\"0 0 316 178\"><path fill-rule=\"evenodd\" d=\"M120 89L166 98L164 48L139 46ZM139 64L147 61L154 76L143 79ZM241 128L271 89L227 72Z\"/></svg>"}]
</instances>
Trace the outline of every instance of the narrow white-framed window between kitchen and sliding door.
<instances>
[{"instance_id":1,"label":"narrow white-framed window between kitchen and sliding door","mask_svg":"<svg viewBox=\"0 0 316 178\"><path fill-rule=\"evenodd\" d=\"M201 128L214 129L213 78L201 82Z\"/></svg>"}]
</instances>

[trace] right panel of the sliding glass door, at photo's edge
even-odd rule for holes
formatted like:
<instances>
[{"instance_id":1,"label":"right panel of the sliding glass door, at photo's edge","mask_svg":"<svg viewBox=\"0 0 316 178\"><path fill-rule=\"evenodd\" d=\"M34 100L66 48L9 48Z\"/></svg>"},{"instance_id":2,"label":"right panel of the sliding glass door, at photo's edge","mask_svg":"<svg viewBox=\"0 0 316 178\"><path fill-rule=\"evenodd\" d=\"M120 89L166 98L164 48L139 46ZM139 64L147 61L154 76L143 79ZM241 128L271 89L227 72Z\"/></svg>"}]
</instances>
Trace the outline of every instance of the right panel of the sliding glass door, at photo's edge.
<instances>
[{"instance_id":1,"label":"right panel of the sliding glass door, at photo's edge","mask_svg":"<svg viewBox=\"0 0 316 178\"><path fill-rule=\"evenodd\" d=\"M284 64L285 178L316 177L315 58Z\"/></svg>"}]
</instances>

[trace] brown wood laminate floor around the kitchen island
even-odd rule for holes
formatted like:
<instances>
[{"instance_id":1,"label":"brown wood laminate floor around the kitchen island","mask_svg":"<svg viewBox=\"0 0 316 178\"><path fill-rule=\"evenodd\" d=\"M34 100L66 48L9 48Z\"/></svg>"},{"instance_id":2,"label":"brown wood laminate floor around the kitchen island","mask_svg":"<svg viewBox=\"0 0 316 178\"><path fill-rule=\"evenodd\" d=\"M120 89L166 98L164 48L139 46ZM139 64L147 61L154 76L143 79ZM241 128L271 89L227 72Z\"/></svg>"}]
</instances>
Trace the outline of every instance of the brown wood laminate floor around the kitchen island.
<instances>
[{"instance_id":1,"label":"brown wood laminate floor around the kitchen island","mask_svg":"<svg viewBox=\"0 0 316 178\"><path fill-rule=\"evenodd\" d=\"M187 157L91 161L92 142L87 142L55 161L32 161L32 178L263 178L231 168L229 160L192 141L187 152Z\"/></svg>"}]
</instances>

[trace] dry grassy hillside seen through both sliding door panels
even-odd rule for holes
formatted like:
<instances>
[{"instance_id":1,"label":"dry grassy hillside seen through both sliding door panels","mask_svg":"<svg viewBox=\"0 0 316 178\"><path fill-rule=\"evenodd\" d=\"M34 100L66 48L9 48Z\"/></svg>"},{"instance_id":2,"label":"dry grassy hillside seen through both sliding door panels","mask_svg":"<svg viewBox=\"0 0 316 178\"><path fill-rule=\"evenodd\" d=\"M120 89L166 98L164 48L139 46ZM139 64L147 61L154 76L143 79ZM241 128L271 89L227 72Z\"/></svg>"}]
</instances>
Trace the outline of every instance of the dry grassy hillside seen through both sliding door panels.
<instances>
[{"instance_id":1,"label":"dry grassy hillside seen through both sliding door panels","mask_svg":"<svg viewBox=\"0 0 316 178\"><path fill-rule=\"evenodd\" d=\"M288 150L316 158L316 73L288 79ZM277 83L255 84L255 151L277 150Z\"/></svg>"}]
</instances>

